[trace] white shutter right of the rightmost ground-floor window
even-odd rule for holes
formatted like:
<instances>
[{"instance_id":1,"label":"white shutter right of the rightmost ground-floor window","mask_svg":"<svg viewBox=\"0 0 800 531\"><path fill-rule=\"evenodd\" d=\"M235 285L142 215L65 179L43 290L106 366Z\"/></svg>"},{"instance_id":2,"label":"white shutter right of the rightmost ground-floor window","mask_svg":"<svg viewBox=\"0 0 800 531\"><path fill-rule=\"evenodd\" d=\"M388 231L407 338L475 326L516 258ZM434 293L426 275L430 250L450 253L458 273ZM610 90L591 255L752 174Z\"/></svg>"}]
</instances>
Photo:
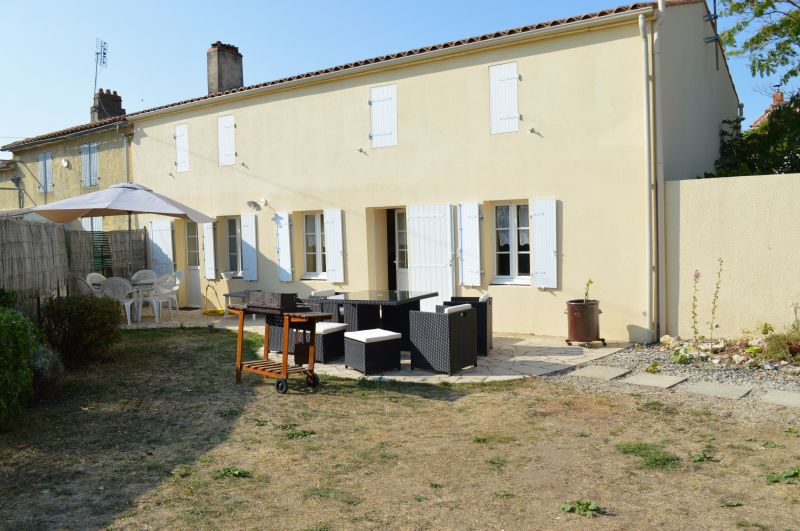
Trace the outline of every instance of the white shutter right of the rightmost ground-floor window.
<instances>
[{"instance_id":1,"label":"white shutter right of the rightmost ground-floor window","mask_svg":"<svg viewBox=\"0 0 800 531\"><path fill-rule=\"evenodd\" d=\"M537 288L558 287L558 249L556 200L531 200L531 238L533 239L533 275Z\"/></svg>"}]
</instances>

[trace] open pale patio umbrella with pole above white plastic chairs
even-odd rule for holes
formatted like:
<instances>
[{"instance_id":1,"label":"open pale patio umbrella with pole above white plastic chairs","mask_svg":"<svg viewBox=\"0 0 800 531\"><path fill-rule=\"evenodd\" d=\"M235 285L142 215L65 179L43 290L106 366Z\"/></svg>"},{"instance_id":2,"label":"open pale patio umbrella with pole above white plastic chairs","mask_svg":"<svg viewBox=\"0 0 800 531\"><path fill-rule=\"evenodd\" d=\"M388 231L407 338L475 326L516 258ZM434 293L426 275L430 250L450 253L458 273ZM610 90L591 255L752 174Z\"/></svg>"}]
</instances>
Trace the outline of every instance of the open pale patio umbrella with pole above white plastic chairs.
<instances>
[{"instance_id":1,"label":"open pale patio umbrella with pole above white plastic chairs","mask_svg":"<svg viewBox=\"0 0 800 531\"><path fill-rule=\"evenodd\" d=\"M128 215L128 275L132 273L131 215L158 214L187 219L196 223L211 223L213 218L193 208L157 194L141 184L125 183L109 186L104 190L78 195L41 205L33 209L56 223L69 223L82 217Z\"/></svg>"}]
</instances>

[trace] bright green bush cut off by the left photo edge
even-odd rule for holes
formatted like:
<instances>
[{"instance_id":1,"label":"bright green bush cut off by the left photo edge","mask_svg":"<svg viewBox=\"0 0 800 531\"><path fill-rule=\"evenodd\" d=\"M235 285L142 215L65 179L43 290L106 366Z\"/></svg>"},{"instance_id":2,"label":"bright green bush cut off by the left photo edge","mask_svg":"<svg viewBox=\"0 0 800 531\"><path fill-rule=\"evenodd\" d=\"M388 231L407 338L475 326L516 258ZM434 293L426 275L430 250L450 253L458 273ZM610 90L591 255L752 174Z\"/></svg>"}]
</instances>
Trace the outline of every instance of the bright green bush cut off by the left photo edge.
<instances>
[{"instance_id":1,"label":"bright green bush cut off by the left photo edge","mask_svg":"<svg viewBox=\"0 0 800 531\"><path fill-rule=\"evenodd\" d=\"M28 368L39 331L30 319L11 308L0 308L0 422L19 415L33 395Z\"/></svg>"}]
</instances>

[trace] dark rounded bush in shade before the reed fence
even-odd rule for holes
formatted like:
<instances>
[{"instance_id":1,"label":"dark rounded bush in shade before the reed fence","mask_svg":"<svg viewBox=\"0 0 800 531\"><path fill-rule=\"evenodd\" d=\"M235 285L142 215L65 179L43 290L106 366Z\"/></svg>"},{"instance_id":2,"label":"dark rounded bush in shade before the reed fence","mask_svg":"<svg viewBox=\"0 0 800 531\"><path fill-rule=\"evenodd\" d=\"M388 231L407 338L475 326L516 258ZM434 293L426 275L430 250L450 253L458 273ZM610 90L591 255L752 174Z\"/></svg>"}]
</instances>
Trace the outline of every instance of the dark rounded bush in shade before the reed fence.
<instances>
[{"instance_id":1,"label":"dark rounded bush in shade before the reed fence","mask_svg":"<svg viewBox=\"0 0 800 531\"><path fill-rule=\"evenodd\" d=\"M48 300L41 325L50 345L61 353L67 368L102 356L119 339L119 302L94 295L72 295Z\"/></svg>"}]
</instances>

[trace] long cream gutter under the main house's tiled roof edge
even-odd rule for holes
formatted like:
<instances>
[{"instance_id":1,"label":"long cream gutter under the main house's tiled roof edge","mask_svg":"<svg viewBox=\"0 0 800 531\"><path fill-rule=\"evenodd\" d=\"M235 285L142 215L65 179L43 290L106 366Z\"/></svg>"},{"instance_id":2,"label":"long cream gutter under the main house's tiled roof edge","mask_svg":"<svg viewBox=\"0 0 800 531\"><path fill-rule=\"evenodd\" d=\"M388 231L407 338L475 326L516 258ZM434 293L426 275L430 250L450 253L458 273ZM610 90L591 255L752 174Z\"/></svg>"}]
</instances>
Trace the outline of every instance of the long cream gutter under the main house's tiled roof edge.
<instances>
[{"instance_id":1,"label":"long cream gutter under the main house's tiled roof edge","mask_svg":"<svg viewBox=\"0 0 800 531\"><path fill-rule=\"evenodd\" d=\"M444 57L444 56L458 56L468 53L473 53L479 50L488 49L488 48L497 48L502 46L510 46L512 44L516 44L522 41L529 41L529 40L537 40L542 39L545 37L550 37L553 35L559 35L562 33L575 33L579 31L591 31L592 29L600 26L609 26L615 24L622 24L625 22L633 22L639 17L643 17L646 15L652 16L654 14L654 7L642 7L633 11L627 11L625 13L616 13L614 15L605 15L600 18L594 18L591 20L581 20L577 22L571 22L568 24L563 24L561 26L554 26L550 28L542 28L538 30L527 31L524 33L515 33L513 35L505 35L502 37L496 37L493 39L485 40L485 41L476 41L472 43L462 44L454 48L441 48L438 50L433 50L430 52L419 53L407 57L398 57L395 59L389 59L386 61L379 61L376 63L357 66L353 68L347 68L343 70L339 70L336 72L328 72L326 74L319 74L314 77L302 78L302 79L295 79L292 81L286 81L283 83L276 83L274 85L267 85L264 87L256 87L252 89L248 89L245 91L240 92L233 92L231 94L222 94L220 96L214 96L211 98L203 98L197 101L189 101L186 103L182 103L179 105L166 105L161 108L155 108L151 110L144 110L135 113L128 114L129 118L132 118L134 121L153 118L156 116L161 116L163 114L169 114L173 112L194 109L197 107L205 107L208 105L213 105L216 103L225 103L228 101L235 101L238 99L249 98L254 96L259 96L262 94L269 94L272 92L284 91L289 90L292 88L296 88L299 86L304 85L312 85L317 83L323 83L327 81L332 81L342 77L350 77L350 76L358 76L358 75L365 75L367 73L379 71L379 70L388 70L391 68L397 68L407 64L413 63L423 63L427 61L433 61L435 59Z\"/></svg>"}]
</instances>

